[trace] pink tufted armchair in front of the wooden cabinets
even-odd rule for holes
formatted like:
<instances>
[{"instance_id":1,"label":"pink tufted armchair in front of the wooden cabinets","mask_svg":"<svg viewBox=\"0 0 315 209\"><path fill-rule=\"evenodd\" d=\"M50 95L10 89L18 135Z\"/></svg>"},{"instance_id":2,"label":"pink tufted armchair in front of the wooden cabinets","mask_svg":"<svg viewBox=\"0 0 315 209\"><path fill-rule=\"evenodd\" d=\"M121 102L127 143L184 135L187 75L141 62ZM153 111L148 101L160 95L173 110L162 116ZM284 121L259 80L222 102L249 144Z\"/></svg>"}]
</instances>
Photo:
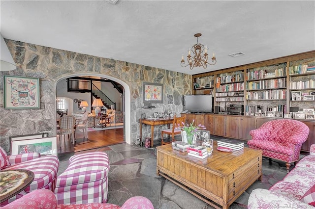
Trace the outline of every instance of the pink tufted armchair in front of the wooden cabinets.
<instances>
[{"instance_id":1,"label":"pink tufted armchair in front of the wooden cabinets","mask_svg":"<svg viewBox=\"0 0 315 209\"><path fill-rule=\"evenodd\" d=\"M256 130L250 131L250 148L262 150L262 155L282 160L287 172L290 163L299 160L302 144L306 141L310 129L302 122L290 119L268 121Z\"/></svg>"}]
</instances>

